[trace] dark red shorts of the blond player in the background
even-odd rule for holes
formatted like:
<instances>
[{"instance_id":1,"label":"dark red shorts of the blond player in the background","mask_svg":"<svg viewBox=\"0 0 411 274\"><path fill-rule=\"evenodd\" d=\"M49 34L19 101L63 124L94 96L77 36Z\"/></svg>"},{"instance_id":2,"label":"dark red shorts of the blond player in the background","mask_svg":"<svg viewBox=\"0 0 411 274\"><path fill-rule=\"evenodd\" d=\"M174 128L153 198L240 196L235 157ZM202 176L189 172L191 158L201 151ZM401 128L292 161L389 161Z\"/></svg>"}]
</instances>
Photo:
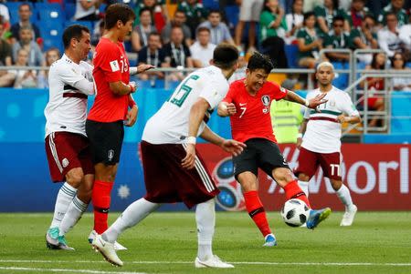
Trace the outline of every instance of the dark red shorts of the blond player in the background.
<instances>
[{"instance_id":1,"label":"dark red shorts of the blond player in the background","mask_svg":"<svg viewBox=\"0 0 411 274\"><path fill-rule=\"evenodd\" d=\"M321 166L324 177L341 180L340 152L317 153L301 147L298 163L299 166L294 170L294 174L297 177L300 173L303 173L311 178L317 171L317 168Z\"/></svg>"}]
</instances>

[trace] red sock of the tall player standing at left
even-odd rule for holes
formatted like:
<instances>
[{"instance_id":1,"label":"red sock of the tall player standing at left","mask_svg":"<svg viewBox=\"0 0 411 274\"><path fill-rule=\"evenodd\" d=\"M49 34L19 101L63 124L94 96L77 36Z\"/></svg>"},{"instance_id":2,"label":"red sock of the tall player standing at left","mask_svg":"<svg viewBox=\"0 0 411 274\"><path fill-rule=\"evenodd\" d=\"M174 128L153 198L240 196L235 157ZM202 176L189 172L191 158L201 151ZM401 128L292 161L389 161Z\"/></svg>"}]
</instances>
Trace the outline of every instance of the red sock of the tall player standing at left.
<instances>
[{"instance_id":1,"label":"red sock of the tall player standing at left","mask_svg":"<svg viewBox=\"0 0 411 274\"><path fill-rule=\"evenodd\" d=\"M94 181L91 199L94 207L94 230L98 234L107 230L113 182Z\"/></svg>"}]
</instances>

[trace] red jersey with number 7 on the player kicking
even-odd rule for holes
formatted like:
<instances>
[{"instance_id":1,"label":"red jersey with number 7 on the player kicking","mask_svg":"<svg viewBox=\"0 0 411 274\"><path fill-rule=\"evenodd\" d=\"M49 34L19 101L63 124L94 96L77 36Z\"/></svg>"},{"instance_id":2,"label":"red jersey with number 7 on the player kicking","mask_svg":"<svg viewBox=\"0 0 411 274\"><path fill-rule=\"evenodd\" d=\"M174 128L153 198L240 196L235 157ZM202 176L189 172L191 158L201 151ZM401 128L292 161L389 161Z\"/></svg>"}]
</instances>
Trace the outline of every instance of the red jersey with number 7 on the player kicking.
<instances>
[{"instance_id":1,"label":"red jersey with number 7 on the player kicking","mask_svg":"<svg viewBox=\"0 0 411 274\"><path fill-rule=\"evenodd\" d=\"M233 139L246 142L250 138L266 138L277 143L269 110L271 101L282 99L287 95L288 90L266 82L255 96L251 96L244 85L244 80L233 82L223 100L236 105L237 113L230 117Z\"/></svg>"}]
</instances>

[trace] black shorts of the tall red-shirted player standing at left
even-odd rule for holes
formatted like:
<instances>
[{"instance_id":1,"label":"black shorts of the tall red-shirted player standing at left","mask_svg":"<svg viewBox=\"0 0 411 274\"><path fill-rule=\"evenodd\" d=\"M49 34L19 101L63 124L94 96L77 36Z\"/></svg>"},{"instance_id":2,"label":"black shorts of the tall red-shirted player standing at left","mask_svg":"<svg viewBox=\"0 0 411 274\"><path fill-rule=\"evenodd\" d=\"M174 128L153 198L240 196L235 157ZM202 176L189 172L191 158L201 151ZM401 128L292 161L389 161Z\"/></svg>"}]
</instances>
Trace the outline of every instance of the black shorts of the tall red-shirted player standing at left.
<instances>
[{"instance_id":1,"label":"black shorts of the tall red-shirted player standing at left","mask_svg":"<svg viewBox=\"0 0 411 274\"><path fill-rule=\"evenodd\" d=\"M94 164L115 165L120 161L123 121L102 123L86 121L86 133L90 140L91 157Z\"/></svg>"}]
</instances>

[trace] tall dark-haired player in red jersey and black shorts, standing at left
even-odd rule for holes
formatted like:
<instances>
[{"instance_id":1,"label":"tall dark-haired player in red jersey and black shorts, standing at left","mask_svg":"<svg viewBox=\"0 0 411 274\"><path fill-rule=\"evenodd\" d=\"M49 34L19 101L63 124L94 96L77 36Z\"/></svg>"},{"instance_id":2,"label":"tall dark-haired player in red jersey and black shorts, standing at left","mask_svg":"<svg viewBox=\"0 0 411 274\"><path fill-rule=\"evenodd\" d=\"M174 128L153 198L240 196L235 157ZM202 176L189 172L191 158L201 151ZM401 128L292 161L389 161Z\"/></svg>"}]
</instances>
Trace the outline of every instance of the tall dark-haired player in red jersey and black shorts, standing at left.
<instances>
[{"instance_id":1,"label":"tall dark-haired player in red jersey and black shorts, standing at left","mask_svg":"<svg viewBox=\"0 0 411 274\"><path fill-rule=\"evenodd\" d=\"M97 95L86 122L95 169L92 190L94 230L90 233L90 241L96 233L108 228L111 188L120 160L123 125L132 127L137 117L138 107L132 99L136 85L130 82L130 75L153 67L130 67L122 42L132 31L134 18L130 6L110 5L104 19L107 32L100 38L93 59Z\"/></svg>"}]
</instances>

